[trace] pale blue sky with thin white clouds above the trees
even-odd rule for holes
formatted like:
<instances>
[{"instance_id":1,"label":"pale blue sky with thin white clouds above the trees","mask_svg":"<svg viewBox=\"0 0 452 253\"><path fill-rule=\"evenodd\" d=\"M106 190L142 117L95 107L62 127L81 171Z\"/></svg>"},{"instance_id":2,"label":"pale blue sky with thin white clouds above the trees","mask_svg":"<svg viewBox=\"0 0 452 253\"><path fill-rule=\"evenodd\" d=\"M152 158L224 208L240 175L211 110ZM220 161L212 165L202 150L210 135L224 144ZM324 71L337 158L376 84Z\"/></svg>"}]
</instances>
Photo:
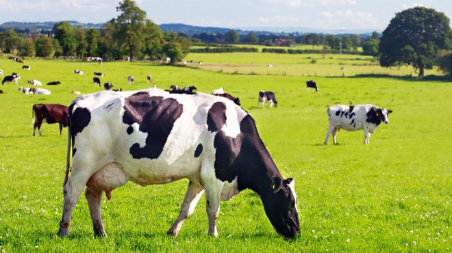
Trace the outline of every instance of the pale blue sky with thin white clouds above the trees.
<instances>
[{"instance_id":1,"label":"pale blue sky with thin white clouds above the trees","mask_svg":"<svg viewBox=\"0 0 452 253\"><path fill-rule=\"evenodd\" d=\"M116 18L119 0L0 0L0 24ZM230 29L292 27L383 31L398 12L434 8L452 19L452 0L137 0L155 24ZM302 31L301 31L302 32Z\"/></svg>"}]
</instances>

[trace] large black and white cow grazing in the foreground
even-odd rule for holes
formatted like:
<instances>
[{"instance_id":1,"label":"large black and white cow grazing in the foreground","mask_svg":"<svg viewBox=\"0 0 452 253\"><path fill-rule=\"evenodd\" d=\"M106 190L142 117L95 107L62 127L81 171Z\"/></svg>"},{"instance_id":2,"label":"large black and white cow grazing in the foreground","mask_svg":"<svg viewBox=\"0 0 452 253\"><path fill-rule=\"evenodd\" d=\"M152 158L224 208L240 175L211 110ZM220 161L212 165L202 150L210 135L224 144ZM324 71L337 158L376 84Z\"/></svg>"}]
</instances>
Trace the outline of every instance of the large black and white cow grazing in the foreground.
<instances>
[{"instance_id":1,"label":"large black and white cow grazing in the foreground","mask_svg":"<svg viewBox=\"0 0 452 253\"><path fill-rule=\"evenodd\" d=\"M217 237L220 201L244 189L260 196L280 235L290 238L300 232L294 179L281 176L253 118L232 101L155 88L104 91L75 98L69 121L60 236L68 235L71 215L85 187L95 235L105 236L104 191L110 199L112 190L127 181L145 186L182 178L190 183L170 235L178 235L205 191L208 231Z\"/></svg>"}]
</instances>

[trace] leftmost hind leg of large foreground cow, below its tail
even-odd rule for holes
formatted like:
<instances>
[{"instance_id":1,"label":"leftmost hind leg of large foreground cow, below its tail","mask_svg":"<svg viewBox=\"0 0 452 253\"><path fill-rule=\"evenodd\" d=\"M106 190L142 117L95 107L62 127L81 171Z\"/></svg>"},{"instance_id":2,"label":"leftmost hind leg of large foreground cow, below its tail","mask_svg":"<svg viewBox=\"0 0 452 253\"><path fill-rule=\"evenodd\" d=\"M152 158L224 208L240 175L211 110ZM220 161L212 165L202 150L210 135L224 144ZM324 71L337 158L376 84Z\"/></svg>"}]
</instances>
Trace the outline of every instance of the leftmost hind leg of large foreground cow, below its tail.
<instances>
[{"instance_id":1,"label":"leftmost hind leg of large foreground cow, below its tail","mask_svg":"<svg viewBox=\"0 0 452 253\"><path fill-rule=\"evenodd\" d=\"M81 182L81 178L76 178L74 175L71 175L66 185L63 186L63 217L60 222L60 230L58 231L58 235L65 236L69 234L69 226L71 226L71 216L74 211L75 204L77 204L77 200L81 195L81 191L83 191L86 181Z\"/></svg>"}]
</instances>

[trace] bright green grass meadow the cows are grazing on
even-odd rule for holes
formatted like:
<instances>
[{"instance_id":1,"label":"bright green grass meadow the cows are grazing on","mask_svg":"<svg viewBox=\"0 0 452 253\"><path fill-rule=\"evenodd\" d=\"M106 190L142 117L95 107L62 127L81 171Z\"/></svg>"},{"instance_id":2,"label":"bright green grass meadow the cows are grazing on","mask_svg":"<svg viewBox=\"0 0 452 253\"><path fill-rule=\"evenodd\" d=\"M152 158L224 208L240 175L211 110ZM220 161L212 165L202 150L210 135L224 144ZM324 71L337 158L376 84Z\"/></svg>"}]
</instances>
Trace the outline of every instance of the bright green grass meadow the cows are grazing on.
<instances>
[{"instance_id":1,"label":"bright green grass meadow the cows are grazing on","mask_svg":"<svg viewBox=\"0 0 452 253\"><path fill-rule=\"evenodd\" d=\"M307 57L316 57L311 63ZM2 252L450 252L452 249L451 81L416 79L411 68L386 69L361 55L275 55L269 53L190 54L202 65L166 66L149 62L69 62L25 59L21 70L6 55L5 75L21 75L0 94L0 247ZM360 59L356 59L360 57ZM343 59L342 59L343 58ZM267 68L266 64L273 64ZM218 66L214 68L213 66ZM233 66L233 67L231 67ZM344 76L340 67L344 67ZM359 69L357 67L360 67ZM79 69L84 75L75 75ZM351 72L353 70L354 72ZM179 237L166 235L179 213L187 180L140 187L127 183L103 198L107 238L92 232L82 195L71 234L56 235L62 215L66 129L43 124L33 137L32 105L68 105L75 95L97 92L102 83L139 90L197 85L210 93L223 87L238 96L253 116L281 174L295 178L301 235L285 241L266 218L260 199L243 191L221 202L218 239L208 236L204 198ZM381 71L381 72L379 72ZM427 75L437 74L429 70ZM146 75L153 76L147 83ZM136 83L127 84L127 75ZM28 79L61 85L52 94L18 92ZM314 79L319 92L307 92ZM259 90L275 92L278 107L256 109ZM326 110L334 104L372 103L392 109L364 145L362 131L338 133L338 144L323 145Z\"/></svg>"}]
</instances>

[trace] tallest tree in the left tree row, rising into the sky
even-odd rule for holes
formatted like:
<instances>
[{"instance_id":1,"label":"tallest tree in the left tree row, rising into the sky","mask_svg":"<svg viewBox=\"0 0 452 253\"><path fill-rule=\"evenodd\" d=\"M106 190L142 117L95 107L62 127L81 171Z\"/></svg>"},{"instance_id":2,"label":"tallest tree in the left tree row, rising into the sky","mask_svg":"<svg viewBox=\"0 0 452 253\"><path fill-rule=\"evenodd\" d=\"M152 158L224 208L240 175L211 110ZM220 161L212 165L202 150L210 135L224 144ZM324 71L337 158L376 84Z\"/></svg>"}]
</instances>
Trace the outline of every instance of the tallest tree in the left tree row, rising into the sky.
<instances>
[{"instance_id":1,"label":"tallest tree in the left tree row, rising into the sky","mask_svg":"<svg viewBox=\"0 0 452 253\"><path fill-rule=\"evenodd\" d=\"M114 20L114 39L127 51L130 60L134 60L145 49L146 12L131 0L119 2L116 11L121 14Z\"/></svg>"}]
</instances>

